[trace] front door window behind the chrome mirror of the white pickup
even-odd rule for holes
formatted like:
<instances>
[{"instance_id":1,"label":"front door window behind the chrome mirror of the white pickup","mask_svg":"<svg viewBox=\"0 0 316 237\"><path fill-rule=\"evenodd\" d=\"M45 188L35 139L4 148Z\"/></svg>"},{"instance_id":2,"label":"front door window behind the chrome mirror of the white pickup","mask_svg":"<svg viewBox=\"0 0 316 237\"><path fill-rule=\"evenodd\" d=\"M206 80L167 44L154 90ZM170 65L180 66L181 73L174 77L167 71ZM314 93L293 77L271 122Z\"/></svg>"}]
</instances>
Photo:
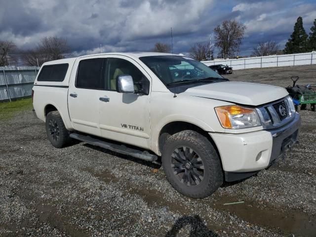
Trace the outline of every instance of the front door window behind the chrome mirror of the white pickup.
<instances>
[{"instance_id":1,"label":"front door window behind the chrome mirror of the white pickup","mask_svg":"<svg viewBox=\"0 0 316 237\"><path fill-rule=\"evenodd\" d=\"M140 92L144 84L149 83L143 73L131 62L121 58L108 58L106 89L116 90L118 76L121 75L130 75L133 78L135 93Z\"/></svg>"}]
</instances>

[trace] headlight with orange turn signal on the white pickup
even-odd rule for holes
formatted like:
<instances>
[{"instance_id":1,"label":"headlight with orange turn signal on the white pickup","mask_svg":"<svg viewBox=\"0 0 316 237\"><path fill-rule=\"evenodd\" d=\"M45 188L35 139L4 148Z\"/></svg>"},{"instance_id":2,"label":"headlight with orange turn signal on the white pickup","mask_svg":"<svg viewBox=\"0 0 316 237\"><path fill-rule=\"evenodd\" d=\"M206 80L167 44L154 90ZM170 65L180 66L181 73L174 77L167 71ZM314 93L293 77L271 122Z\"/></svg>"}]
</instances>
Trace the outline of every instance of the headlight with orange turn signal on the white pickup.
<instances>
[{"instance_id":1,"label":"headlight with orange turn signal on the white pickup","mask_svg":"<svg viewBox=\"0 0 316 237\"><path fill-rule=\"evenodd\" d=\"M238 129L261 125L255 109L231 105L216 107L215 111L218 120L224 128Z\"/></svg>"}]
</instances>

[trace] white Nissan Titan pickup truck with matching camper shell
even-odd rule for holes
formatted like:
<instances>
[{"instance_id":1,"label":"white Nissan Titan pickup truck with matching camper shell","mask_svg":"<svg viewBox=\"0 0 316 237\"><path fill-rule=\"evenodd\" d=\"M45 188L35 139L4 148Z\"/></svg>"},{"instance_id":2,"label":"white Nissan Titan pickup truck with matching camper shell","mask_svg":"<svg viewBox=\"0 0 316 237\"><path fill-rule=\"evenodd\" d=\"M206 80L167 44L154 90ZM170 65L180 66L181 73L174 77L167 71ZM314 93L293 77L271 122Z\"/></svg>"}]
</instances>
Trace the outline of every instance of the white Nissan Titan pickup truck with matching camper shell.
<instances>
[{"instance_id":1,"label":"white Nissan Titan pickup truck with matching camper shell","mask_svg":"<svg viewBox=\"0 0 316 237\"><path fill-rule=\"evenodd\" d=\"M284 88L229 81L190 57L104 53L44 63L33 105L56 148L78 139L149 161L195 198L282 158L301 118Z\"/></svg>"}]
</instances>

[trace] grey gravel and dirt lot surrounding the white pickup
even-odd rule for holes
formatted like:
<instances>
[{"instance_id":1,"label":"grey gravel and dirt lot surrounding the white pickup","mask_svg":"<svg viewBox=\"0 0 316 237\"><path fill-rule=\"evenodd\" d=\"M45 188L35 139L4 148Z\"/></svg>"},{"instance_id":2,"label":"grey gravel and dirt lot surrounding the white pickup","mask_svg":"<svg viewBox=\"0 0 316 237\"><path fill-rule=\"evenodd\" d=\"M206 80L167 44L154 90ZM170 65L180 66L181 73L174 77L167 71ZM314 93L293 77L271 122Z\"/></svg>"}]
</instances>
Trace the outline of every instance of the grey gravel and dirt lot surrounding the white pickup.
<instances>
[{"instance_id":1,"label":"grey gravel and dirt lot surrounding the white pickup","mask_svg":"<svg viewBox=\"0 0 316 237\"><path fill-rule=\"evenodd\" d=\"M316 85L316 66L236 71L232 80ZM268 170L184 197L153 163L85 143L53 148L31 111L0 120L0 236L316 236L316 112ZM244 201L239 204L224 203Z\"/></svg>"}]
</instances>

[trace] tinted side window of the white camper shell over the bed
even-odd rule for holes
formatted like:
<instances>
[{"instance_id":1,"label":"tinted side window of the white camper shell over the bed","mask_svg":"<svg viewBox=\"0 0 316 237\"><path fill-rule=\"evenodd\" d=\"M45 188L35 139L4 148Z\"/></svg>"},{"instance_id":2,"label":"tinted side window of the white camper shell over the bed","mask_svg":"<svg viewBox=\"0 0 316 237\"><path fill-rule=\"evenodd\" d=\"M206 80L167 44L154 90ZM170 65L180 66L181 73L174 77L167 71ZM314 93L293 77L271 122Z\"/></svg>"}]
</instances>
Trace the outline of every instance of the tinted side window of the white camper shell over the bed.
<instances>
[{"instance_id":1,"label":"tinted side window of the white camper shell over the bed","mask_svg":"<svg viewBox=\"0 0 316 237\"><path fill-rule=\"evenodd\" d=\"M38 81L63 81L65 79L68 63L46 65L40 71Z\"/></svg>"}]
</instances>

